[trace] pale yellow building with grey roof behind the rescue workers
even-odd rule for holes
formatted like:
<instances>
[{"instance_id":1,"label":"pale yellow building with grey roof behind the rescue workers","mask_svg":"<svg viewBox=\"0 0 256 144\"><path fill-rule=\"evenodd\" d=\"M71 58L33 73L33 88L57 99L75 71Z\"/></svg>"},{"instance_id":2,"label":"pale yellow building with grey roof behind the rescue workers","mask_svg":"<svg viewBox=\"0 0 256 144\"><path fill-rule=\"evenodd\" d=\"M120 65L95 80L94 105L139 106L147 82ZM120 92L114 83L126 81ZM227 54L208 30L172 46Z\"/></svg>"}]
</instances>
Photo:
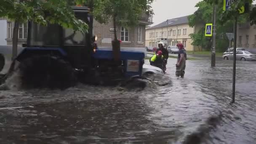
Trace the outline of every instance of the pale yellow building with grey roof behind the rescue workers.
<instances>
[{"instance_id":1,"label":"pale yellow building with grey roof behind the rescue workers","mask_svg":"<svg viewBox=\"0 0 256 144\"><path fill-rule=\"evenodd\" d=\"M195 33L195 27L189 27L188 16L175 19L168 19L160 24L146 29L145 46L154 47L159 41L166 43L166 46L174 46L177 43L183 43L187 51L195 51L191 44L192 39L189 34Z\"/></svg>"}]
</instances>

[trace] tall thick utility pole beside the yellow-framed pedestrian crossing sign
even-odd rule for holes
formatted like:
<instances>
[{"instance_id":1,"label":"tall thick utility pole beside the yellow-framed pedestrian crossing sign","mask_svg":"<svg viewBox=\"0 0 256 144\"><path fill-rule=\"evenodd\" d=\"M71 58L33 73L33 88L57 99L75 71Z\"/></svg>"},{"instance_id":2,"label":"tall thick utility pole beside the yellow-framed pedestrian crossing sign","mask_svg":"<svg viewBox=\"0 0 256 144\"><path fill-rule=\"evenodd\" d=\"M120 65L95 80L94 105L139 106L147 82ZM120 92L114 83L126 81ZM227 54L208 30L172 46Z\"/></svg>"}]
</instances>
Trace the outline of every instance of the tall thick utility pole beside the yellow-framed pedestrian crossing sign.
<instances>
[{"instance_id":1,"label":"tall thick utility pole beside the yellow-framed pedestrian crossing sign","mask_svg":"<svg viewBox=\"0 0 256 144\"><path fill-rule=\"evenodd\" d=\"M216 64L216 6L213 3L213 47L211 50L211 67L215 67Z\"/></svg>"}]
</instances>

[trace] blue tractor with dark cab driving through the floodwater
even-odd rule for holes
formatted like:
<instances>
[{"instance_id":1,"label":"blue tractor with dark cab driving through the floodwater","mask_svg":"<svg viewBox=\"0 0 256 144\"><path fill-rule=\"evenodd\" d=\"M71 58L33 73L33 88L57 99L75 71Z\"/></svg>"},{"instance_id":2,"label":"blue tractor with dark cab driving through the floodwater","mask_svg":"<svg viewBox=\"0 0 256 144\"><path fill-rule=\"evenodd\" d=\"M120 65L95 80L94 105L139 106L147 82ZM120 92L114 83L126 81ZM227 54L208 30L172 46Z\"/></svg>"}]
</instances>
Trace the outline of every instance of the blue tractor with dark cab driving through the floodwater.
<instances>
[{"instance_id":1,"label":"blue tractor with dark cab driving through the floodwater","mask_svg":"<svg viewBox=\"0 0 256 144\"><path fill-rule=\"evenodd\" d=\"M89 23L87 7L72 9L78 19ZM89 33L33 21L28 23L27 44L23 47L16 60L20 62L22 85L27 88L67 88L77 81L116 84L140 77L145 57L144 52L121 51L117 66L113 51L97 48L95 37Z\"/></svg>"}]
</instances>

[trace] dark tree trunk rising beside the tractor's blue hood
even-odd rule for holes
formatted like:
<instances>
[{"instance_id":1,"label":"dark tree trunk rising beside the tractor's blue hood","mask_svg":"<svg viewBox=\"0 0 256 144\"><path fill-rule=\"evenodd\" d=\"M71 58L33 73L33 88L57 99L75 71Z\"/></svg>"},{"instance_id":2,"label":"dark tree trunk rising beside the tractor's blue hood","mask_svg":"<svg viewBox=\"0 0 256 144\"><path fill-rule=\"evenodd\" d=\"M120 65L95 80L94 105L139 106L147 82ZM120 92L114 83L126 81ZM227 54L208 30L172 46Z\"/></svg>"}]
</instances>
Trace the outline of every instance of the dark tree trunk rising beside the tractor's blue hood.
<instances>
[{"instance_id":1,"label":"dark tree trunk rising beside the tractor's blue hood","mask_svg":"<svg viewBox=\"0 0 256 144\"><path fill-rule=\"evenodd\" d=\"M115 38L112 40L112 51L113 51L113 56L114 60L116 61L117 65L120 65L120 42L117 40L117 31L116 31L116 17L113 17L113 22L114 22L114 35Z\"/></svg>"}]
</instances>

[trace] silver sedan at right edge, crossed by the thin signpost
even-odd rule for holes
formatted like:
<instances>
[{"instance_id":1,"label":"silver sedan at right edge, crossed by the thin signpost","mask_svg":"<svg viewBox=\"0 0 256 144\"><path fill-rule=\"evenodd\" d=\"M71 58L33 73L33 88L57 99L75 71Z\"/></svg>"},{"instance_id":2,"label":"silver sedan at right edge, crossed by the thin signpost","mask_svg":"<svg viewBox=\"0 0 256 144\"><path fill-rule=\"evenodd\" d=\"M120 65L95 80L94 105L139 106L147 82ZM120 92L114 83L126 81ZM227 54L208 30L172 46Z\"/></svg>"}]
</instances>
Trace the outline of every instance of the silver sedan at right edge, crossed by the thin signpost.
<instances>
[{"instance_id":1,"label":"silver sedan at right edge, crossed by the thin signpost","mask_svg":"<svg viewBox=\"0 0 256 144\"><path fill-rule=\"evenodd\" d=\"M224 54L222 57L225 60L233 60L233 52ZM249 51L237 51L236 60L256 61L256 54L250 53Z\"/></svg>"}]
</instances>

